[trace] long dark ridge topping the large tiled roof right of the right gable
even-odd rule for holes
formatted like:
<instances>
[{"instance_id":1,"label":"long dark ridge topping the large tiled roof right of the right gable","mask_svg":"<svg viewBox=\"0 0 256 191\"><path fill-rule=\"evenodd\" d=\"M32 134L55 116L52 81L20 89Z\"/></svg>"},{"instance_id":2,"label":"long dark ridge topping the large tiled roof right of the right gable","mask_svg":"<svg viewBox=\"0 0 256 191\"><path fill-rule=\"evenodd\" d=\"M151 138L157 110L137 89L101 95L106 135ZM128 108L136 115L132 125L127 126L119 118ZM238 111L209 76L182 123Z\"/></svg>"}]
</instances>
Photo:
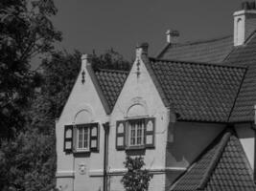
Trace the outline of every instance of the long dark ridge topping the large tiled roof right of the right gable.
<instances>
[{"instance_id":1,"label":"long dark ridge topping the large tiled roof right of the right gable","mask_svg":"<svg viewBox=\"0 0 256 191\"><path fill-rule=\"evenodd\" d=\"M247 69L247 67L243 66L236 66L236 65L226 65L226 64L218 64L218 63L207 63L207 62L196 62L196 61L181 61L181 60L169 60L169 59L162 59L162 58L155 58L149 57L150 60L154 61L164 61L164 62L175 62L181 64L194 64L194 65L204 65L204 66L214 66L214 67L221 67L221 68L236 68L236 69Z\"/></svg>"}]
</instances>

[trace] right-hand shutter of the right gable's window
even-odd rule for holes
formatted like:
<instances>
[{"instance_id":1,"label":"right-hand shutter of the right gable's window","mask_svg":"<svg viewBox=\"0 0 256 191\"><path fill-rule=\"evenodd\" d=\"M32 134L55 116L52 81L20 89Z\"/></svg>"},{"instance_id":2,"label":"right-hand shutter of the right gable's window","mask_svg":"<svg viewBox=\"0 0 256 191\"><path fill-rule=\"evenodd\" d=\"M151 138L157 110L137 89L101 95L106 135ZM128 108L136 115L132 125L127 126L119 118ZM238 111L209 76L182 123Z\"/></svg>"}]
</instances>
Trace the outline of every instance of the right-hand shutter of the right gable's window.
<instances>
[{"instance_id":1,"label":"right-hand shutter of the right gable's window","mask_svg":"<svg viewBox=\"0 0 256 191\"><path fill-rule=\"evenodd\" d=\"M145 118L145 145L154 148L154 124L155 118Z\"/></svg>"}]
</instances>

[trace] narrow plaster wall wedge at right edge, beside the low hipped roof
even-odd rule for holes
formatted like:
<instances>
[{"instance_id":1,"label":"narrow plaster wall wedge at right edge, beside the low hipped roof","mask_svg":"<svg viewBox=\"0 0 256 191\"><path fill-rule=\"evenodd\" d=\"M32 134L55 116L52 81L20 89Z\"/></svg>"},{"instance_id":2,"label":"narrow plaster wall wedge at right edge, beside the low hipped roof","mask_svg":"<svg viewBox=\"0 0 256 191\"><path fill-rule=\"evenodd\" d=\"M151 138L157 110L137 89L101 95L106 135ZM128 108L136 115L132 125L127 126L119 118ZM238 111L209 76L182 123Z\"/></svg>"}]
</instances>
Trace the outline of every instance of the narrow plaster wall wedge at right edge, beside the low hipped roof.
<instances>
[{"instance_id":1,"label":"narrow plaster wall wedge at right edge, beside the low hipped roof","mask_svg":"<svg viewBox=\"0 0 256 191\"><path fill-rule=\"evenodd\" d=\"M251 124L236 124L236 132L240 142L244 148L244 153L250 163L252 169L254 169L254 151L255 151L255 133L251 129Z\"/></svg>"}]
</instances>

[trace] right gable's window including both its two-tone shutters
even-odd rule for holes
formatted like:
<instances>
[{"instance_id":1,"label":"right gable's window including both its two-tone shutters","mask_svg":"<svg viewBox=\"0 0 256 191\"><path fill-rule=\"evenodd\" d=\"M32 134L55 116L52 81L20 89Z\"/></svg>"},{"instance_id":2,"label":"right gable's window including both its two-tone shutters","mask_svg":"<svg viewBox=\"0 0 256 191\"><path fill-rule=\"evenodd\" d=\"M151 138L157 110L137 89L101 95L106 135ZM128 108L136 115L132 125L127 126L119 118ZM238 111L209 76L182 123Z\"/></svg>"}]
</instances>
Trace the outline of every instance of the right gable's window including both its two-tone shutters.
<instances>
[{"instance_id":1,"label":"right gable's window including both its two-tone shutters","mask_svg":"<svg viewBox=\"0 0 256 191\"><path fill-rule=\"evenodd\" d=\"M154 147L154 118L117 121L116 149L139 149Z\"/></svg>"}]
</instances>

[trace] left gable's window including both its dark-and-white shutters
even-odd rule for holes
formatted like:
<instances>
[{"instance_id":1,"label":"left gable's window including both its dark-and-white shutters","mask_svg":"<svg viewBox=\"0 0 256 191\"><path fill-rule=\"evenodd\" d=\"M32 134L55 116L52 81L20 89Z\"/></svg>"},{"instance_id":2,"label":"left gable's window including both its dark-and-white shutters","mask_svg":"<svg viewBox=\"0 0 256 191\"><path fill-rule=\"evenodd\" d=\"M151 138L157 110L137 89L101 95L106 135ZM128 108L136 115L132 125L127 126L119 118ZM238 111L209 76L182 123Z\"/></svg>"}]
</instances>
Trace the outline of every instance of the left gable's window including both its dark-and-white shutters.
<instances>
[{"instance_id":1,"label":"left gable's window including both its dark-and-white shutters","mask_svg":"<svg viewBox=\"0 0 256 191\"><path fill-rule=\"evenodd\" d=\"M86 123L66 125L64 132L64 152L98 152L99 124Z\"/></svg>"}]
</instances>

